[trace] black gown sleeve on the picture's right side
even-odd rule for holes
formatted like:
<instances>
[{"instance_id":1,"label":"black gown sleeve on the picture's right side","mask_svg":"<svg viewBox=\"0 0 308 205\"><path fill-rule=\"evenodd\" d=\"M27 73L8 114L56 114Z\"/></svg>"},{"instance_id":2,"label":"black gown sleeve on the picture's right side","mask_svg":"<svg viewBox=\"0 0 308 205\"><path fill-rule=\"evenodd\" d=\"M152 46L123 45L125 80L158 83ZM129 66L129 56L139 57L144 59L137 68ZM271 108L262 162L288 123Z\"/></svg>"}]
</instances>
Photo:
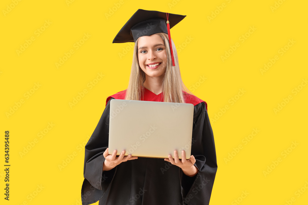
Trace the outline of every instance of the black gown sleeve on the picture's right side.
<instances>
[{"instance_id":1,"label":"black gown sleeve on the picture's right side","mask_svg":"<svg viewBox=\"0 0 308 205\"><path fill-rule=\"evenodd\" d=\"M199 172L186 176L180 169L183 204L209 204L217 172L216 151L212 127L204 102L194 106L191 154Z\"/></svg>"}]
</instances>

